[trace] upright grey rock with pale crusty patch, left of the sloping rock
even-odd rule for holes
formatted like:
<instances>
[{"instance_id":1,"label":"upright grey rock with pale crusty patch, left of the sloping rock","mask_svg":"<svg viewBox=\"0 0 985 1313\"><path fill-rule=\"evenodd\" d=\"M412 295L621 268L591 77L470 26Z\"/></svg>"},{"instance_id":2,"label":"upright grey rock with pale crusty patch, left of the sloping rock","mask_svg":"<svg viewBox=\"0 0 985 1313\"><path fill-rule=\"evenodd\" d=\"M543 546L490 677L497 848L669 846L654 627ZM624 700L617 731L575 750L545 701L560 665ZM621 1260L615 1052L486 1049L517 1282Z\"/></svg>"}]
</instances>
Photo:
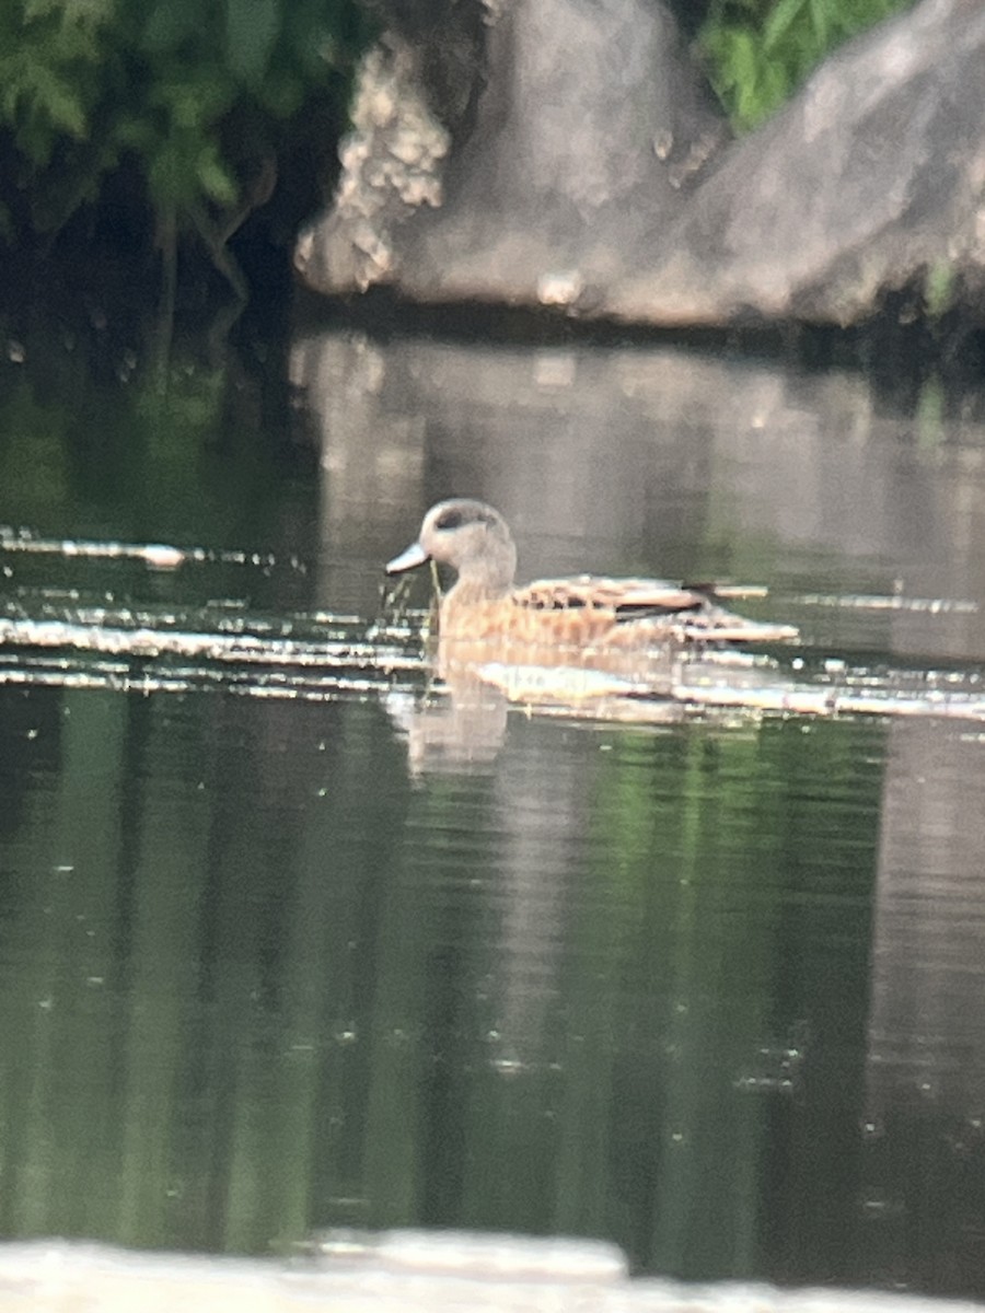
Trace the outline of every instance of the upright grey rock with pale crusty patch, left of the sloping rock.
<instances>
[{"instance_id":1,"label":"upright grey rock with pale crusty patch, left of the sloping rock","mask_svg":"<svg viewBox=\"0 0 985 1313\"><path fill-rule=\"evenodd\" d=\"M444 20L390 30L364 60L336 200L298 244L317 290L385 282L423 301L591 299L625 273L650 226L680 214L728 137L661 3L468 0L449 7L449 22L468 9L485 21L470 93L458 87L450 116ZM462 46L453 38L460 80Z\"/></svg>"}]
</instances>

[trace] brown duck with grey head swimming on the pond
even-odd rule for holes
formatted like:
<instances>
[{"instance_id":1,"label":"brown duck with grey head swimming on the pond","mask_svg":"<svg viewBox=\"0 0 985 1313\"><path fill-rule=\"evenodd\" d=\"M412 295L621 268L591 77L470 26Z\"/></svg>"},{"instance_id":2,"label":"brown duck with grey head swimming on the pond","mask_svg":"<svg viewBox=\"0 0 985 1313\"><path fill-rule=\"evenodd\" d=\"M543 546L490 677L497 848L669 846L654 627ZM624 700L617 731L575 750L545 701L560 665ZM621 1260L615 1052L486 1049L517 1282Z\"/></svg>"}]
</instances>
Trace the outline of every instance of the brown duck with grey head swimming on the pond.
<instances>
[{"instance_id":1,"label":"brown duck with grey head swimming on the pond","mask_svg":"<svg viewBox=\"0 0 985 1313\"><path fill-rule=\"evenodd\" d=\"M456 582L439 605L443 643L506 643L515 651L646 650L676 645L793 642L793 625L746 620L722 596L763 590L674 584L659 579L575 575L516 584L516 544L503 516L473 498L432 506L414 542L386 565L399 575L428 562L450 566Z\"/></svg>"}]
</instances>

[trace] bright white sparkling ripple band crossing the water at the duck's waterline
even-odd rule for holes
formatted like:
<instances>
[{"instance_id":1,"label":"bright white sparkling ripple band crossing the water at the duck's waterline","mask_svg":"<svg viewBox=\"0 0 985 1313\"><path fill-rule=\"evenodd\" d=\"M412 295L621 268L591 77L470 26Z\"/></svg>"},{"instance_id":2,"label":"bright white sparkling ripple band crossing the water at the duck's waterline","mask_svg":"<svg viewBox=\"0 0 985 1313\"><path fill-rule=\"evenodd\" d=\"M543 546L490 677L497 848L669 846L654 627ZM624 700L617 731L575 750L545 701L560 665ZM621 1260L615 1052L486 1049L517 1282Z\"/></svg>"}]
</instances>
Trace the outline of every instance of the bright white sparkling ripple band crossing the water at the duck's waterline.
<instances>
[{"instance_id":1,"label":"bright white sparkling ripple band crossing the water at the duck's waterline","mask_svg":"<svg viewBox=\"0 0 985 1313\"><path fill-rule=\"evenodd\" d=\"M20 609L20 608L18 608ZM402 621L353 624L319 611L268 620L217 607L194 613L79 607L62 614L0 614L0 684L110 688L139 692L225 689L256 697L336 699L398 688L433 676L420 626ZM215 628L209 628L209 618ZM194 618L198 625L189 625ZM419 617L418 617L419 618ZM645 679L621 681L591 667L511 666L499 660L473 674L508 702L528 709L621 721L651 718L661 704L783 716L948 717L985 721L985 676L978 668L893 670L851 666L844 658L795 649L784 664L742 653L682 660L659 693ZM440 685L439 685L440 688ZM449 695L454 697L454 688Z\"/></svg>"}]
</instances>

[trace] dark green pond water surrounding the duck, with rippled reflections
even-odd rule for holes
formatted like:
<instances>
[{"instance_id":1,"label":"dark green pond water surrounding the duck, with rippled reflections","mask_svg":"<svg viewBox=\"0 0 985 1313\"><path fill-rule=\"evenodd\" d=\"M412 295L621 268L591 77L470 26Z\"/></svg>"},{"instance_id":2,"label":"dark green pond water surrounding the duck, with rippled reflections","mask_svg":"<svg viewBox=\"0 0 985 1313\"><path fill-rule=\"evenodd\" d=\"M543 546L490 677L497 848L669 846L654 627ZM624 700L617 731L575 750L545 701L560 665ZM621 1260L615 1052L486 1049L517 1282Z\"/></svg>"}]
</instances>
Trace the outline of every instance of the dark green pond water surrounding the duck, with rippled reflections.
<instances>
[{"instance_id":1,"label":"dark green pond water surrounding the duck, with rippled reflections","mask_svg":"<svg viewBox=\"0 0 985 1313\"><path fill-rule=\"evenodd\" d=\"M317 467L208 378L0 373L0 1233L985 1297L982 398L328 330L289 381ZM767 584L753 684L841 701L462 714L382 591L450 494L524 579Z\"/></svg>"}]
</instances>

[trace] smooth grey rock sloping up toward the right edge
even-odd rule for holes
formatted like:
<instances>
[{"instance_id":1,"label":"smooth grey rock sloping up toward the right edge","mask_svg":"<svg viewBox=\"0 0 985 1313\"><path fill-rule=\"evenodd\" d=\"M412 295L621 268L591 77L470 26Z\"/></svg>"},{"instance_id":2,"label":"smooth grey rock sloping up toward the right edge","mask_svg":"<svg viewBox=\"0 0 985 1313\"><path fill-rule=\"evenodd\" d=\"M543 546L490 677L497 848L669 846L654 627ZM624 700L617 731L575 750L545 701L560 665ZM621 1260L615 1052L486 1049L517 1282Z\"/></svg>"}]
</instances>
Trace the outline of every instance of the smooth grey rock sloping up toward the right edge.
<instances>
[{"instance_id":1,"label":"smooth grey rock sloping up toward the right edge","mask_svg":"<svg viewBox=\"0 0 985 1313\"><path fill-rule=\"evenodd\" d=\"M850 324L914 280L982 318L985 8L925 0L834 54L600 309L657 324ZM940 303L943 301L943 303Z\"/></svg>"}]
</instances>

